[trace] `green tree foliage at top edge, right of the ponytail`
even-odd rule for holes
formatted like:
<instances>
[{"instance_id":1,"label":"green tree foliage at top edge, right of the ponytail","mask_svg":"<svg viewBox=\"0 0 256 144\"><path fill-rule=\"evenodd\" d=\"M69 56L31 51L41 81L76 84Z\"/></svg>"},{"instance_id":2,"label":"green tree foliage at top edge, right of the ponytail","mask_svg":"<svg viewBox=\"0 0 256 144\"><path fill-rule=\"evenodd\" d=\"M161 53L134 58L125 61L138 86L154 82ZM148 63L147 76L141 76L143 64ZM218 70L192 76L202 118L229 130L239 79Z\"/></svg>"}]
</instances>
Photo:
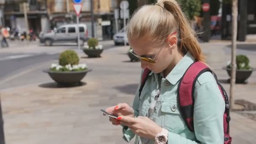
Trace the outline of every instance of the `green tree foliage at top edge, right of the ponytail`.
<instances>
[{"instance_id":1,"label":"green tree foliage at top edge, right of the ponytail","mask_svg":"<svg viewBox=\"0 0 256 144\"><path fill-rule=\"evenodd\" d=\"M177 0L181 8L189 20L193 20L194 16L199 16L202 3L201 0Z\"/></svg>"}]
</instances>

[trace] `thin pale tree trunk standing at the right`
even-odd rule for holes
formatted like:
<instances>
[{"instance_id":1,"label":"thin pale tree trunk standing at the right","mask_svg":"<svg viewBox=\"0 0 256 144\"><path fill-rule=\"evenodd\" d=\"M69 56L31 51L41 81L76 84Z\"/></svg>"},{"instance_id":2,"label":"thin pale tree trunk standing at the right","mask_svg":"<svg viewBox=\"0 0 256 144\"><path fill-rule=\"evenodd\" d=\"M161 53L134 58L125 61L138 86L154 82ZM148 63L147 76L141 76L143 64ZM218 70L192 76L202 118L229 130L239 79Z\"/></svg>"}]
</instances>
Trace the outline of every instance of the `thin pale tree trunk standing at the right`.
<instances>
[{"instance_id":1,"label":"thin pale tree trunk standing at the right","mask_svg":"<svg viewBox=\"0 0 256 144\"><path fill-rule=\"evenodd\" d=\"M232 0L232 55L231 55L231 80L230 80L230 109L234 109L234 89L236 75L236 47L237 47L237 1Z\"/></svg>"}]
</instances>

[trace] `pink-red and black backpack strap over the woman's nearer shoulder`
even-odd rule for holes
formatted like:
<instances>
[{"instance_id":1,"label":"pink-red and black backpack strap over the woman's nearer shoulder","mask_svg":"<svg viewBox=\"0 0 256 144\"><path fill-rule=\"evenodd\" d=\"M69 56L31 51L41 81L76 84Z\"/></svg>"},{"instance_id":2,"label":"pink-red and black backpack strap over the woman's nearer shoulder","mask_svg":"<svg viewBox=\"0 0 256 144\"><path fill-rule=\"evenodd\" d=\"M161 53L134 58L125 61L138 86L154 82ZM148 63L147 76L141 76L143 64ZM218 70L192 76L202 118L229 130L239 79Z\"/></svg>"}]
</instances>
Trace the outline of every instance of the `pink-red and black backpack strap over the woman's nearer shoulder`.
<instances>
[{"instance_id":1,"label":"pink-red and black backpack strap over the woman's nearer shoulder","mask_svg":"<svg viewBox=\"0 0 256 144\"><path fill-rule=\"evenodd\" d=\"M190 131L194 131L194 89L197 78L203 72L212 72L203 62L196 61L189 66L178 87L178 102L181 116Z\"/></svg>"}]
</instances>

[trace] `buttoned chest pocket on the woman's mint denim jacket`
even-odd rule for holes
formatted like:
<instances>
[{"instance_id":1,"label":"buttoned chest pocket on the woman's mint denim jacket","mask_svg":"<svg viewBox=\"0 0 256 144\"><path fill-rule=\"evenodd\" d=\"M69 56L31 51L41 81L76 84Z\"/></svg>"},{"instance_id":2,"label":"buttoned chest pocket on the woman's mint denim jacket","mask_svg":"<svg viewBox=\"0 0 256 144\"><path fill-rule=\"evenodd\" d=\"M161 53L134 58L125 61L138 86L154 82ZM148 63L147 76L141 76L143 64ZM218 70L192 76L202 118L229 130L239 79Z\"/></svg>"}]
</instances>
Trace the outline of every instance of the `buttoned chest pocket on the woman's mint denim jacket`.
<instances>
[{"instance_id":1,"label":"buttoned chest pocket on the woman's mint denim jacket","mask_svg":"<svg viewBox=\"0 0 256 144\"><path fill-rule=\"evenodd\" d=\"M161 112L162 126L168 131L179 131L185 128L177 102L162 102Z\"/></svg>"}]
</instances>

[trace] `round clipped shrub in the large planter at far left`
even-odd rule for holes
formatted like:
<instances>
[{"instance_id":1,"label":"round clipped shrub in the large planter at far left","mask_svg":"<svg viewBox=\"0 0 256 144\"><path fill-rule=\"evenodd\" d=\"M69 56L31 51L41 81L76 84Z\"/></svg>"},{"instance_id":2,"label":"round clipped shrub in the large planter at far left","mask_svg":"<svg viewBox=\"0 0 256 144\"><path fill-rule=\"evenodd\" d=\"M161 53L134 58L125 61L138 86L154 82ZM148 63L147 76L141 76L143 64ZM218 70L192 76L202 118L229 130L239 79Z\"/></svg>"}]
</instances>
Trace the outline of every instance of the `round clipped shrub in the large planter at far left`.
<instances>
[{"instance_id":1,"label":"round clipped shrub in the large planter at far left","mask_svg":"<svg viewBox=\"0 0 256 144\"><path fill-rule=\"evenodd\" d=\"M72 50L64 51L59 56L59 65L65 66L67 64L75 65L79 63L77 53Z\"/></svg>"}]
</instances>

